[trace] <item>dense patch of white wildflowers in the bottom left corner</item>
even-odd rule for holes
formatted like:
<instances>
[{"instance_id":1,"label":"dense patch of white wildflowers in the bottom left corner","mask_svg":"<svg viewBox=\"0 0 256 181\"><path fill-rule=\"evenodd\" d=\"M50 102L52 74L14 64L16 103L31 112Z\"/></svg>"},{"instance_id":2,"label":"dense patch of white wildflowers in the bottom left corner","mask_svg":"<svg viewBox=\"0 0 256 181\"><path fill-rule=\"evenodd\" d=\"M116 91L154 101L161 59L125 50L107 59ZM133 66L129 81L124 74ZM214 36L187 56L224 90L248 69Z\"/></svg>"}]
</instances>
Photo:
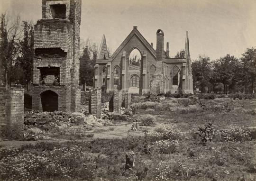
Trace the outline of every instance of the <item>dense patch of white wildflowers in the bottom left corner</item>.
<instances>
[{"instance_id":1,"label":"dense patch of white wildflowers in the bottom left corner","mask_svg":"<svg viewBox=\"0 0 256 181\"><path fill-rule=\"evenodd\" d=\"M6 152L2 150L1 152ZM7 157L0 160L0 180L61 180L80 177L92 180L95 177L96 163L83 154L81 147L54 148L51 151L20 152L12 148Z\"/></svg>"}]
</instances>

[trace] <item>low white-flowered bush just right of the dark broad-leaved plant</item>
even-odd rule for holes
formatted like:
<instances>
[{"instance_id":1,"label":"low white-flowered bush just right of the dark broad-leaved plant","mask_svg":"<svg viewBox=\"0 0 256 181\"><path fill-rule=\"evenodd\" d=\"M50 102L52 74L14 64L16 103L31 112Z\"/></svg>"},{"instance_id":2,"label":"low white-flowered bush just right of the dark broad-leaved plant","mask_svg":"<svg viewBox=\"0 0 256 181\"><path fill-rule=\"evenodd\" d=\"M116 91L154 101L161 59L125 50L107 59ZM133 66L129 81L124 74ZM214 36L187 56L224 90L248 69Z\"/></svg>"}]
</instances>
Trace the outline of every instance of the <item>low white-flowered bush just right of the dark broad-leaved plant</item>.
<instances>
[{"instance_id":1,"label":"low white-flowered bush just right of the dark broad-leaved plant","mask_svg":"<svg viewBox=\"0 0 256 181\"><path fill-rule=\"evenodd\" d=\"M251 140L250 132L242 126L230 126L227 131L223 133L225 141L247 141Z\"/></svg>"}]
</instances>

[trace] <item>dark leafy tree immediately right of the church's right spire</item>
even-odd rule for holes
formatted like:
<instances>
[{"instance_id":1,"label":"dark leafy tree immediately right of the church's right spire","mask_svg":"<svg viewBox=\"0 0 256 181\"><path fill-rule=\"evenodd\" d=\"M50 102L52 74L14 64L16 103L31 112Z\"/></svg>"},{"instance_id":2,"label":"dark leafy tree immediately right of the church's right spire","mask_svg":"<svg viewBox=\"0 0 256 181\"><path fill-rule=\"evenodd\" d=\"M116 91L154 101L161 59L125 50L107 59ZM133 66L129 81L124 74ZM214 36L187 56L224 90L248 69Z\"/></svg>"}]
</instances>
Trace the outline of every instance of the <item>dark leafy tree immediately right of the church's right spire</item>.
<instances>
[{"instance_id":1,"label":"dark leafy tree immediately right of the church's right spire","mask_svg":"<svg viewBox=\"0 0 256 181\"><path fill-rule=\"evenodd\" d=\"M201 87L205 93L205 87L210 85L211 63L210 57L199 55L198 60L192 62L193 87Z\"/></svg>"}]
</instances>

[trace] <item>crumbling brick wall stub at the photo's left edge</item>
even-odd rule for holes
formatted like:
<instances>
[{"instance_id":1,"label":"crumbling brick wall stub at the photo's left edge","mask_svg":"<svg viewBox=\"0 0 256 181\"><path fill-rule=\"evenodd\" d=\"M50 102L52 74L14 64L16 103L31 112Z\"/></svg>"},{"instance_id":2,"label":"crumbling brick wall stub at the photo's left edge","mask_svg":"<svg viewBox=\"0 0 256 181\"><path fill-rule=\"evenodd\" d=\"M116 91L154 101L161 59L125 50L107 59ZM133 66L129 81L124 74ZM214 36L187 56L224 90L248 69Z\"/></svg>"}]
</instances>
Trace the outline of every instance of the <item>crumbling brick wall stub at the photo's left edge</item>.
<instances>
[{"instance_id":1,"label":"crumbling brick wall stub at the photo's left edge","mask_svg":"<svg viewBox=\"0 0 256 181\"><path fill-rule=\"evenodd\" d=\"M24 89L0 88L0 135L7 129L23 130Z\"/></svg>"}]
</instances>

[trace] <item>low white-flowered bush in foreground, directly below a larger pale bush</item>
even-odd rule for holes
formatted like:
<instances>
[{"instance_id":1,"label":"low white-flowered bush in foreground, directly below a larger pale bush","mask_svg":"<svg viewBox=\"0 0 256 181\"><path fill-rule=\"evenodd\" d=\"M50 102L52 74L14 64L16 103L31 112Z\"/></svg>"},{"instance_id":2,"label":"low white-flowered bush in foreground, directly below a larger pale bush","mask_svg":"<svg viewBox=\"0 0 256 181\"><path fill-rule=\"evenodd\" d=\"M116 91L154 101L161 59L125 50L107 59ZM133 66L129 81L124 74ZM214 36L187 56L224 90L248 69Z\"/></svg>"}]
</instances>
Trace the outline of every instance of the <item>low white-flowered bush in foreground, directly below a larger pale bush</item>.
<instances>
[{"instance_id":1,"label":"low white-flowered bush in foreground, directly below a larger pale bush","mask_svg":"<svg viewBox=\"0 0 256 181\"><path fill-rule=\"evenodd\" d=\"M159 140L155 142L154 148L160 154L173 154L178 150L180 142L177 140Z\"/></svg>"}]
</instances>

